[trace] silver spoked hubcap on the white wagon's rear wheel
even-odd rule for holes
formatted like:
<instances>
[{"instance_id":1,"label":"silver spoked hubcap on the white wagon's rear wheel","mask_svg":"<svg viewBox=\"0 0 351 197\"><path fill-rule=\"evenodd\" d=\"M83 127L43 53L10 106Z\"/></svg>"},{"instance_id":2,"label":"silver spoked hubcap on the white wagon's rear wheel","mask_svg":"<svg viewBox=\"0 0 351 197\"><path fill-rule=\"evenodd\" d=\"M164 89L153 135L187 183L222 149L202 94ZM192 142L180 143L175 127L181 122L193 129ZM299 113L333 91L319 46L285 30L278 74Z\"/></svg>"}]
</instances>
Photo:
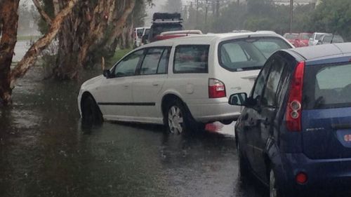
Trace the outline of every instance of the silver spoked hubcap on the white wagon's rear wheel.
<instances>
[{"instance_id":1,"label":"silver spoked hubcap on the white wagon's rear wheel","mask_svg":"<svg viewBox=\"0 0 351 197\"><path fill-rule=\"evenodd\" d=\"M171 133L183 133L183 121L183 113L179 107L171 107L168 111L168 126Z\"/></svg>"}]
</instances>

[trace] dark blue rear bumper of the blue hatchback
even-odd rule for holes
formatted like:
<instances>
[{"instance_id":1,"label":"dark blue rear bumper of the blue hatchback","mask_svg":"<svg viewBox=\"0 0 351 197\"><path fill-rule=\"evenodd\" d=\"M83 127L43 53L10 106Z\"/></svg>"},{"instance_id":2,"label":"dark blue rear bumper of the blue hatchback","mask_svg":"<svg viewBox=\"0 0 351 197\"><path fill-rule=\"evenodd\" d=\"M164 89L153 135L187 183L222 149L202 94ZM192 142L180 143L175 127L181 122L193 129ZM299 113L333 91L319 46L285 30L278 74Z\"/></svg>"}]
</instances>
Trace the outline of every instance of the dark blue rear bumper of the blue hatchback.
<instances>
[{"instance_id":1,"label":"dark blue rear bumper of the blue hatchback","mask_svg":"<svg viewBox=\"0 0 351 197\"><path fill-rule=\"evenodd\" d=\"M286 196L324 196L336 192L338 196L351 196L351 158L316 160L305 154L285 154L279 171L277 179ZM298 172L307 175L305 184L296 183Z\"/></svg>"}]
</instances>

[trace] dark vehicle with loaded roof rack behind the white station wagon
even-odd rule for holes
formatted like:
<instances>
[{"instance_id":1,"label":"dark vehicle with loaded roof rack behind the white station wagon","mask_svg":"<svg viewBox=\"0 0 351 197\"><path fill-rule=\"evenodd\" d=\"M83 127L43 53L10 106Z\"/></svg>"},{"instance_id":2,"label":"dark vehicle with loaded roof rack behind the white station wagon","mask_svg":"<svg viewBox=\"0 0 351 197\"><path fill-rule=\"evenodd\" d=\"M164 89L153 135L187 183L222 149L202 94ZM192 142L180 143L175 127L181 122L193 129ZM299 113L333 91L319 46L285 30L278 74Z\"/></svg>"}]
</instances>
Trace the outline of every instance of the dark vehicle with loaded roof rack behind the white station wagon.
<instances>
[{"instance_id":1,"label":"dark vehicle with loaded roof rack behind the white station wagon","mask_svg":"<svg viewBox=\"0 0 351 197\"><path fill-rule=\"evenodd\" d=\"M183 19L180 13L154 13L148 42L157 41L157 36L162 32L183 30Z\"/></svg>"}]
</instances>

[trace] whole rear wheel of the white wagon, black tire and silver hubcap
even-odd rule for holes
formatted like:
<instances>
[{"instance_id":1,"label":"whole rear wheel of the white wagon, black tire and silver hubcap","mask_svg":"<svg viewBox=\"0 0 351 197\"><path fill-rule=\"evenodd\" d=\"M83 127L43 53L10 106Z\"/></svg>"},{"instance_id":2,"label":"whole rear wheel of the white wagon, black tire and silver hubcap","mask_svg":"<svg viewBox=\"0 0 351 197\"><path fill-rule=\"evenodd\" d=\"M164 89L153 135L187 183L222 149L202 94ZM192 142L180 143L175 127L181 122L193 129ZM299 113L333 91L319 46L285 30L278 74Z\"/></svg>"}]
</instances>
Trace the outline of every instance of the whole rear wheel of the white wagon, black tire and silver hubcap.
<instances>
[{"instance_id":1,"label":"whole rear wheel of the white wagon, black tire and silver hubcap","mask_svg":"<svg viewBox=\"0 0 351 197\"><path fill-rule=\"evenodd\" d=\"M204 123L197 123L180 100L173 100L167 104L164 123L168 132L173 134L202 131L206 126Z\"/></svg>"}]
</instances>

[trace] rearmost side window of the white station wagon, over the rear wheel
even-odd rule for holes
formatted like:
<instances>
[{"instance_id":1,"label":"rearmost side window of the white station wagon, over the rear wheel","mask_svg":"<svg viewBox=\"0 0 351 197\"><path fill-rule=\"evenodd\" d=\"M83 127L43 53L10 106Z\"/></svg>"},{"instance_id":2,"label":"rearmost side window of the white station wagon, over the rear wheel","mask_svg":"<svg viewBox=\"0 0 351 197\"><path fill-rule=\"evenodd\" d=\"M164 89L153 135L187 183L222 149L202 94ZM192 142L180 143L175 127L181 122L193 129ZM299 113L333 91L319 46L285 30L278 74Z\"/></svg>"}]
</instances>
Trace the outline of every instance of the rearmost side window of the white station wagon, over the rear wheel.
<instances>
[{"instance_id":1,"label":"rearmost side window of the white station wagon, over the rear wheel","mask_svg":"<svg viewBox=\"0 0 351 197\"><path fill-rule=\"evenodd\" d=\"M208 73L208 45L177 46L174 57L173 72Z\"/></svg>"}]
</instances>

